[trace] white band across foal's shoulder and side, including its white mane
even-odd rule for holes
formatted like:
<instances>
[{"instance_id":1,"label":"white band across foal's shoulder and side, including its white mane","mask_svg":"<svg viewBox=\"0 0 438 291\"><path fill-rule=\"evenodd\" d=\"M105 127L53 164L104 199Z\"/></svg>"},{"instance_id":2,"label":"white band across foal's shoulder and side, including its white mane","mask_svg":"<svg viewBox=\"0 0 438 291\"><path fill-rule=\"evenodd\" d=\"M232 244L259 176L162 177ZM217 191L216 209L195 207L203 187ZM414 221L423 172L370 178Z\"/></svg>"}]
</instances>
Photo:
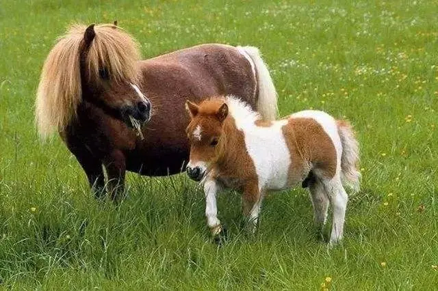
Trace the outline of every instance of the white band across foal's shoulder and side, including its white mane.
<instances>
[{"instance_id":1,"label":"white band across foal's shoulder and side, including its white mane","mask_svg":"<svg viewBox=\"0 0 438 291\"><path fill-rule=\"evenodd\" d=\"M244 133L246 150L259 178L259 189L285 189L290 153L281 128L287 120L274 121L271 126L256 126L254 122L260 115L249 105L233 96L227 96L227 104L237 128Z\"/></svg>"}]
</instances>

